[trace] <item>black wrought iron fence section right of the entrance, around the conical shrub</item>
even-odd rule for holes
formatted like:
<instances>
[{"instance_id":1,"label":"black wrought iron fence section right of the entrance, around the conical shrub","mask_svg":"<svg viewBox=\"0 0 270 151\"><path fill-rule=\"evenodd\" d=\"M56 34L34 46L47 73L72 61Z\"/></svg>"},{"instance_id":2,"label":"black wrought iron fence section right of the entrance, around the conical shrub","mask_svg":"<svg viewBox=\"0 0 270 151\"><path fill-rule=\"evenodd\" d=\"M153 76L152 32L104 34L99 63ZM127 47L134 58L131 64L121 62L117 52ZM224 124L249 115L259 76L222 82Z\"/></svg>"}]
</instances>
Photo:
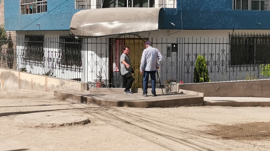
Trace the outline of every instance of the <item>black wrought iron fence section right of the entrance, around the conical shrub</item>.
<instances>
[{"instance_id":1,"label":"black wrought iron fence section right of the entrance, around the conical shrub","mask_svg":"<svg viewBox=\"0 0 270 151\"><path fill-rule=\"evenodd\" d=\"M204 56L210 81L268 78L270 36L234 34L229 38L181 38L180 81L194 83L198 56Z\"/></svg>"}]
</instances>

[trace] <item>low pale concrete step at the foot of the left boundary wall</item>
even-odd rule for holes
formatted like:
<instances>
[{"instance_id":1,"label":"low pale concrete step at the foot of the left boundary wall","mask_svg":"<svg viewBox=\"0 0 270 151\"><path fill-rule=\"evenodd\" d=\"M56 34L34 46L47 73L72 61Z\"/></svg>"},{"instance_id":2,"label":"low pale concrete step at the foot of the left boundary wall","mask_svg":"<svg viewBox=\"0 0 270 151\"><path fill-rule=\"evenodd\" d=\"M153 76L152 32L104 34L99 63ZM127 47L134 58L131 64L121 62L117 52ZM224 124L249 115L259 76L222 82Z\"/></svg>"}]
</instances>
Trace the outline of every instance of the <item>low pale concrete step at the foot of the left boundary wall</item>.
<instances>
[{"instance_id":1,"label":"low pale concrete step at the foot of the left boundary wall","mask_svg":"<svg viewBox=\"0 0 270 151\"><path fill-rule=\"evenodd\" d=\"M1 96L1 95L0 95ZM41 98L41 99L55 99L53 92L35 91L35 90L7 90L7 98Z\"/></svg>"}]
</instances>

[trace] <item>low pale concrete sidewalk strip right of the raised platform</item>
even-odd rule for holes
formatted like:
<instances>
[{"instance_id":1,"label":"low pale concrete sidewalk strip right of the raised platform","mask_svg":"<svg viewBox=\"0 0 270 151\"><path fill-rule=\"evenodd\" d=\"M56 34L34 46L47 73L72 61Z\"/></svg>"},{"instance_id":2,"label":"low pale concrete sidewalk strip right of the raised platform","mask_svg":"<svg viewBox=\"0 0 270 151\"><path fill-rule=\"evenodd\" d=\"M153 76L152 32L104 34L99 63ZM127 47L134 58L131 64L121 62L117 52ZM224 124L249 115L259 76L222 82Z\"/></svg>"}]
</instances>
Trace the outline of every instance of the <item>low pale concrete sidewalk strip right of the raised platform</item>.
<instances>
[{"instance_id":1,"label":"low pale concrete sidewalk strip right of the raised platform","mask_svg":"<svg viewBox=\"0 0 270 151\"><path fill-rule=\"evenodd\" d=\"M259 97L204 97L205 106L269 107L270 98Z\"/></svg>"}]
</instances>

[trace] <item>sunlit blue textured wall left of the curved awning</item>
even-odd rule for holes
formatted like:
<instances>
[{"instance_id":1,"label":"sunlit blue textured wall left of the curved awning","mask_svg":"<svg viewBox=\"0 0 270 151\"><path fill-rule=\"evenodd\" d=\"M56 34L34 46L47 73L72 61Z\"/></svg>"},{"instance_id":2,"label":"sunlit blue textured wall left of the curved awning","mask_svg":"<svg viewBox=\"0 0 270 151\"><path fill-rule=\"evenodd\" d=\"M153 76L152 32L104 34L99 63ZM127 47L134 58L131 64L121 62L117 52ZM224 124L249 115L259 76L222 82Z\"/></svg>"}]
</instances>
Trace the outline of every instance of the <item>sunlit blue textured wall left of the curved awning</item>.
<instances>
[{"instance_id":1,"label":"sunlit blue textured wall left of the curved awning","mask_svg":"<svg viewBox=\"0 0 270 151\"><path fill-rule=\"evenodd\" d=\"M69 30L73 14L79 11L74 0L48 0L47 12L20 15L19 1L4 2L5 30Z\"/></svg>"}]
</instances>

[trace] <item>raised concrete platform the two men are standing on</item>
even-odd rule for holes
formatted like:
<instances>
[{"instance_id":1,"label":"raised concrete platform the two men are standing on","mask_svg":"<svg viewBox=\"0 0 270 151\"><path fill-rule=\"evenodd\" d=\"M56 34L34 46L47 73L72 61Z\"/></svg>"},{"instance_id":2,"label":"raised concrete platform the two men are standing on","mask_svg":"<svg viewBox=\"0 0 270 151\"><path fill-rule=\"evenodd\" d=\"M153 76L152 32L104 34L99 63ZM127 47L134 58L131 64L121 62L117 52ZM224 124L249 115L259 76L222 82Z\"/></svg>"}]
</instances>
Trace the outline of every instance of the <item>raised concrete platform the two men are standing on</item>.
<instances>
[{"instance_id":1,"label":"raised concrete platform the two men are standing on","mask_svg":"<svg viewBox=\"0 0 270 151\"><path fill-rule=\"evenodd\" d=\"M98 89L98 88L97 88ZM105 88L103 88L106 90ZM150 93L151 94L151 93ZM198 95L200 94L200 95ZM116 107L177 107L177 106L201 106L203 104L203 93L157 93L144 97L142 93L124 94L123 92L103 91L99 93L80 92L76 90L54 91L58 98L69 98L80 103L94 103L100 106Z\"/></svg>"}]
</instances>

